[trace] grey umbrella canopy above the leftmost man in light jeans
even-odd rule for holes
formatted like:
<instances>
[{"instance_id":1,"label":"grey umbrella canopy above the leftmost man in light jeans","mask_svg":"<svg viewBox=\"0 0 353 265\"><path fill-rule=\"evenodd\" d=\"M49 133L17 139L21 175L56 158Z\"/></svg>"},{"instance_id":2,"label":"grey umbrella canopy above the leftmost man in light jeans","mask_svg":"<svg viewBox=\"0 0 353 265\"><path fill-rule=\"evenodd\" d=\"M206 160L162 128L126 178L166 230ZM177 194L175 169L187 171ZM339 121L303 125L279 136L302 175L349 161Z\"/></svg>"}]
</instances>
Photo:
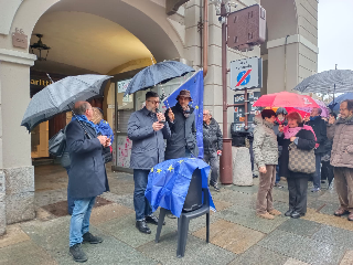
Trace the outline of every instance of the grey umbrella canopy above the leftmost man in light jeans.
<instances>
[{"instance_id":1,"label":"grey umbrella canopy above the leftmost man in light jeans","mask_svg":"<svg viewBox=\"0 0 353 265\"><path fill-rule=\"evenodd\" d=\"M71 110L75 102L103 95L107 75L67 76L36 93L24 113L21 126L31 131L56 114Z\"/></svg>"}]
</instances>

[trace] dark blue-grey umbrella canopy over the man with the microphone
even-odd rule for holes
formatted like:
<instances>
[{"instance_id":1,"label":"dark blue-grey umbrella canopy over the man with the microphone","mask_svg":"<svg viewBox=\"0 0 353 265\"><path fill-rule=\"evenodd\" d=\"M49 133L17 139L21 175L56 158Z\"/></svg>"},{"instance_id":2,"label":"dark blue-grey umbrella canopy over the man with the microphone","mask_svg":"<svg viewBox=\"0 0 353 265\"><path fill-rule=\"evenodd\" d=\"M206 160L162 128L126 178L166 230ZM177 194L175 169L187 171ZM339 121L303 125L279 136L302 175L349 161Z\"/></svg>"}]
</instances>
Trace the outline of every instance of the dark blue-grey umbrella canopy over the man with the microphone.
<instances>
[{"instance_id":1,"label":"dark blue-grey umbrella canopy over the man with the microphone","mask_svg":"<svg viewBox=\"0 0 353 265\"><path fill-rule=\"evenodd\" d=\"M132 77L126 88L125 96L183 76L193 71L195 71L193 67L175 61L165 61L153 64L143 68Z\"/></svg>"}]
</instances>

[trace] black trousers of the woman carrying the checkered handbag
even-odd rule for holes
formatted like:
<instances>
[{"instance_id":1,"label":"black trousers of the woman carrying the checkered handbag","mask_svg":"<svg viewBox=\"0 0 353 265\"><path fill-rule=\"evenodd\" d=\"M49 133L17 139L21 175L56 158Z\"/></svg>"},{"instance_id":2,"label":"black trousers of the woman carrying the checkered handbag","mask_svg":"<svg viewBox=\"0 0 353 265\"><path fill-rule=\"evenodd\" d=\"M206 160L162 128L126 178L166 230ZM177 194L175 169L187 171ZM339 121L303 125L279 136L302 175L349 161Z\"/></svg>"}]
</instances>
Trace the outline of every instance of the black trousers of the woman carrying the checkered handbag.
<instances>
[{"instance_id":1,"label":"black trousers of the woman carrying the checkered handbag","mask_svg":"<svg viewBox=\"0 0 353 265\"><path fill-rule=\"evenodd\" d=\"M307 213L308 178L287 178L289 191L289 209Z\"/></svg>"}]
</instances>

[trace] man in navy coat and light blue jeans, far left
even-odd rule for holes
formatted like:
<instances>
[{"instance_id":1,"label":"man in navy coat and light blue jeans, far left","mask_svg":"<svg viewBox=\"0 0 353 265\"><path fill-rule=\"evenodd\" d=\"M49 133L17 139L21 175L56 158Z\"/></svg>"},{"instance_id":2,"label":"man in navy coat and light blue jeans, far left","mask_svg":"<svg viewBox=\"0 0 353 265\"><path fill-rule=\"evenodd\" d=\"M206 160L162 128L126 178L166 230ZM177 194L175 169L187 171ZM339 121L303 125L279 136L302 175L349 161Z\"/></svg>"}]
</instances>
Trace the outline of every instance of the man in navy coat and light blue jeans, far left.
<instances>
[{"instance_id":1,"label":"man in navy coat and light blue jeans, far left","mask_svg":"<svg viewBox=\"0 0 353 265\"><path fill-rule=\"evenodd\" d=\"M68 192L74 200L69 224L69 253L75 262L88 258L81 248L82 242L101 243L103 239L89 233L89 218L97 195L109 191L103 147L110 144L106 136L97 136L93 108L87 102L75 104L76 114L66 128L66 146L71 158Z\"/></svg>"}]
</instances>

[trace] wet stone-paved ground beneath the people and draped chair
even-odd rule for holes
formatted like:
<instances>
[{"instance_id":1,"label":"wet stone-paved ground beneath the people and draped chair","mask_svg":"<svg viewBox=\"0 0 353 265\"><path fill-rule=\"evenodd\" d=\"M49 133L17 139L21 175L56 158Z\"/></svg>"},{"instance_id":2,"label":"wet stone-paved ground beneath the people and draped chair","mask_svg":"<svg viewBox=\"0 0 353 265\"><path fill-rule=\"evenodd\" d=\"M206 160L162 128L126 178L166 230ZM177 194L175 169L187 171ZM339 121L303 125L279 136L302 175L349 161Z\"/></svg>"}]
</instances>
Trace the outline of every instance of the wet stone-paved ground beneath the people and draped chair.
<instances>
[{"instance_id":1,"label":"wet stone-paved ground beneath the people and draped chair","mask_svg":"<svg viewBox=\"0 0 353 265\"><path fill-rule=\"evenodd\" d=\"M255 214L257 179L253 187L222 187L212 191L217 209L211 215L211 243L205 242L205 216L192 220L185 256L176 258L176 220L167 220L160 243L135 227L132 176L108 172L113 203L95 208L92 232L104 237L98 245L84 244L86 264L353 264L353 222L333 216L334 191L308 191L308 213L292 220ZM274 188L275 206L285 212L288 191ZM68 254L69 216L57 218L43 206L66 200L67 176L58 166L35 168L36 219L8 226L0 237L0 264L75 264ZM158 214L158 213L157 213Z\"/></svg>"}]
</instances>

